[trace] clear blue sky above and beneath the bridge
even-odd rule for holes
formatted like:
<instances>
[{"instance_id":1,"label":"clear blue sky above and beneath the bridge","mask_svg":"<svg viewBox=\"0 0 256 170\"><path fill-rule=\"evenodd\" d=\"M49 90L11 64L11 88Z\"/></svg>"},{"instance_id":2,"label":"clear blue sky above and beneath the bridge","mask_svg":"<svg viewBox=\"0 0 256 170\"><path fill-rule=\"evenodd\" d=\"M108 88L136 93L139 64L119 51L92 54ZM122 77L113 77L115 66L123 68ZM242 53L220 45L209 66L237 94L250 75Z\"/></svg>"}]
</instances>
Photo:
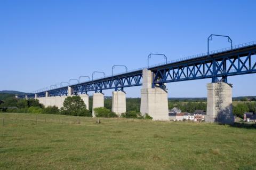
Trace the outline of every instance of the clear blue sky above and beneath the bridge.
<instances>
[{"instance_id":1,"label":"clear blue sky above and beneath the bridge","mask_svg":"<svg viewBox=\"0 0 256 170\"><path fill-rule=\"evenodd\" d=\"M256 1L2 0L0 90L31 92L93 71L110 75L114 64L137 69L147 66L149 53L173 60L206 52L210 34L229 35L234 44L256 41L255 6ZM215 37L210 50L227 46L227 39ZM255 76L229 77L233 96L256 95ZM205 97L210 82L169 83L169 96ZM125 91L140 96L140 87Z\"/></svg>"}]
</instances>

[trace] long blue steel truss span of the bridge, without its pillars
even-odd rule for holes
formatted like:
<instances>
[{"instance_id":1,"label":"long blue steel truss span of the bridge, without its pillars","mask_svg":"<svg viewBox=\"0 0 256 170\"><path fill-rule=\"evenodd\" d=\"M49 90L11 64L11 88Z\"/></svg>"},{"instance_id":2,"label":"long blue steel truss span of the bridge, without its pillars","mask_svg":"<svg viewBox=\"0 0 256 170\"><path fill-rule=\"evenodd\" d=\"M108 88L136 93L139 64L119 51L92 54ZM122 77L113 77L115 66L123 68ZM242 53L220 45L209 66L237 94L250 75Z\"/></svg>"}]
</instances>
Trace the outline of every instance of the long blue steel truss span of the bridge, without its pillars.
<instances>
[{"instance_id":1,"label":"long blue steel truss span of the bridge, without its pillars","mask_svg":"<svg viewBox=\"0 0 256 170\"><path fill-rule=\"evenodd\" d=\"M154 72L153 87L165 88L165 83L204 78L211 78L212 83L227 83L229 76L256 72L256 42L222 48L146 68ZM141 86L142 70L146 68L70 85L71 94L87 94L90 91L97 93L108 89L123 91L125 87ZM27 98L35 98L35 94L37 98L45 97L46 91L29 94ZM68 86L47 90L47 94L48 96L67 95ZM18 98L26 97L19 95Z\"/></svg>"}]
</instances>

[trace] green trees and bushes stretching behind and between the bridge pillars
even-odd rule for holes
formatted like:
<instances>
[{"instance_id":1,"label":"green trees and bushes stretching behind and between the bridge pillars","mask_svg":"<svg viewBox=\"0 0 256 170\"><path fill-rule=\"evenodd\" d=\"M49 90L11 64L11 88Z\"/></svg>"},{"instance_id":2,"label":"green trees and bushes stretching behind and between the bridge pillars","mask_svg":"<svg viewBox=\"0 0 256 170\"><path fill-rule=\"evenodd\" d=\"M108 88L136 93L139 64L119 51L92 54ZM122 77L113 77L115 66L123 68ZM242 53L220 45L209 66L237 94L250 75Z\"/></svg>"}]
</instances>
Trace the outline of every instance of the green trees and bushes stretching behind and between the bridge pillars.
<instances>
[{"instance_id":1,"label":"green trees and bushes stretching behind and between the bridge pillars","mask_svg":"<svg viewBox=\"0 0 256 170\"><path fill-rule=\"evenodd\" d=\"M233 106L233 114L243 118L244 112L256 111L256 102L252 99L250 102L245 98L241 98L245 102L238 103ZM246 102L247 101L247 102ZM104 101L105 107L98 109L98 116L101 117L117 117L115 113L111 112L112 99L106 98ZM92 98L89 98L89 108L85 106L84 101L79 96L72 96L66 98L63 102L63 107L45 107L39 103L36 99L16 99L13 96L6 98L4 103L0 104L0 111L2 112L17 112L25 113L29 112L32 114L62 114L71 116L92 116ZM177 102L175 100L169 100L169 109L174 107L179 108L182 112L193 113L195 110L207 109L206 102ZM89 109L89 110L88 110ZM127 112L122 115L125 118L142 118L140 114L140 98L127 98L126 99L126 110ZM102 115L103 113L103 115Z\"/></svg>"}]
</instances>

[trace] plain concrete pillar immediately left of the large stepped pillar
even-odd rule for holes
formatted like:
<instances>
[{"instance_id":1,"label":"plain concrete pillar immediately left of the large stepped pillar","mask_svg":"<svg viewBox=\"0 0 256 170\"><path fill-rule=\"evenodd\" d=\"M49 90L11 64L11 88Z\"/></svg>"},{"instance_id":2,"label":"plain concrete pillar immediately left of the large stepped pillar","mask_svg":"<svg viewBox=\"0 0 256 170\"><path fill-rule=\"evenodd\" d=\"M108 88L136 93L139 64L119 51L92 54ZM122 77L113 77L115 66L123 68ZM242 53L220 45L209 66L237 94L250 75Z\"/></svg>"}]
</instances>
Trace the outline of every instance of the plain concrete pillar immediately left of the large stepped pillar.
<instances>
[{"instance_id":1,"label":"plain concrete pillar immediately left of the large stepped pillar","mask_svg":"<svg viewBox=\"0 0 256 170\"><path fill-rule=\"evenodd\" d=\"M117 115L126 112L126 95L122 91L112 92L112 111Z\"/></svg>"}]
</instances>

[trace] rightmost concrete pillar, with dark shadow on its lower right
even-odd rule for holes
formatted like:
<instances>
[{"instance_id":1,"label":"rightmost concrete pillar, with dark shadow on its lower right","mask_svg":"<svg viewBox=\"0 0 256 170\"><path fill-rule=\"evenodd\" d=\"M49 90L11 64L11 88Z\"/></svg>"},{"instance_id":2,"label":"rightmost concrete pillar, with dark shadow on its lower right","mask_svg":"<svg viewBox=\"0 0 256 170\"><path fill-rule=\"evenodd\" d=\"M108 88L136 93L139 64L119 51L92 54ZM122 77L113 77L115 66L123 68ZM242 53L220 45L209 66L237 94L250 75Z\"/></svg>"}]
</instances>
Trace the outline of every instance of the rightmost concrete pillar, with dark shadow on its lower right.
<instances>
[{"instance_id":1,"label":"rightmost concrete pillar, with dark shadow on its lower right","mask_svg":"<svg viewBox=\"0 0 256 170\"><path fill-rule=\"evenodd\" d=\"M227 83L207 84L206 122L233 124L232 86Z\"/></svg>"}]
</instances>

